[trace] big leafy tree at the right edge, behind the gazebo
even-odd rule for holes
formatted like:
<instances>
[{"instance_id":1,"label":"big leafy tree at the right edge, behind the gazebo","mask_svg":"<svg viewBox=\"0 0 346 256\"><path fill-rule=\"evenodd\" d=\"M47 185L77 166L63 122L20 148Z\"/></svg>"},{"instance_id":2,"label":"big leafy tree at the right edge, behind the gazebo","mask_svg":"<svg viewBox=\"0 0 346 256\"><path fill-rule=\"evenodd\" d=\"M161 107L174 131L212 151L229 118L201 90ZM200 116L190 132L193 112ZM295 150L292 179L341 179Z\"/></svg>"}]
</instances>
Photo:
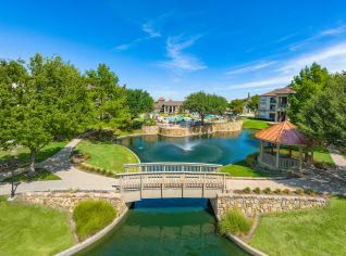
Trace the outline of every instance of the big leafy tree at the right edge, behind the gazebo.
<instances>
[{"instance_id":1,"label":"big leafy tree at the right edge, behind the gazebo","mask_svg":"<svg viewBox=\"0 0 346 256\"><path fill-rule=\"evenodd\" d=\"M325 89L302 106L299 129L311 140L329 145L346 144L346 73L336 74Z\"/></svg>"}]
</instances>

